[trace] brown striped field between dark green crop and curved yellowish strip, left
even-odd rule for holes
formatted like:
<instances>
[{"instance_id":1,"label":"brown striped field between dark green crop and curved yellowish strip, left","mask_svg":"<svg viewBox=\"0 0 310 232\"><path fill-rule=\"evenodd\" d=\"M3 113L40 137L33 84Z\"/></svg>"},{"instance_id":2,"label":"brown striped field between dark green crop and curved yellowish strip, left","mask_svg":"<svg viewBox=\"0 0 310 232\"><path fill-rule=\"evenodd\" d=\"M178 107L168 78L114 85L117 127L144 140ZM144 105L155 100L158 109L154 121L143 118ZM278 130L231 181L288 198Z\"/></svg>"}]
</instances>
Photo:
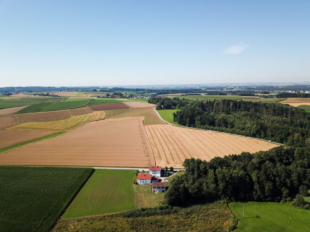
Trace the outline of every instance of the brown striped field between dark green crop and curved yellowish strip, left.
<instances>
[{"instance_id":1,"label":"brown striped field between dark green crop and curved yellowish strip, left","mask_svg":"<svg viewBox=\"0 0 310 232\"><path fill-rule=\"evenodd\" d=\"M14 114L15 122L52 121L70 118L69 110Z\"/></svg>"}]
</instances>

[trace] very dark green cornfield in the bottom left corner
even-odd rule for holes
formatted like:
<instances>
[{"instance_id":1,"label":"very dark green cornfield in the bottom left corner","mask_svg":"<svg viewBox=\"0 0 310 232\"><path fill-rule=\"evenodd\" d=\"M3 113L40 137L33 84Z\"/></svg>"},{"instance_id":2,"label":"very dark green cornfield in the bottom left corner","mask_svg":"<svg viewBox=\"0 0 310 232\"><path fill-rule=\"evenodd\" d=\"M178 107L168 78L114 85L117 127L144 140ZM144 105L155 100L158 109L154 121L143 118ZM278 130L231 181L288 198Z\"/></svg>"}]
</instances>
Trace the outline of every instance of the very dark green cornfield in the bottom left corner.
<instances>
[{"instance_id":1,"label":"very dark green cornfield in the bottom left corner","mask_svg":"<svg viewBox=\"0 0 310 232\"><path fill-rule=\"evenodd\" d=\"M48 231L92 172L0 166L0 231Z\"/></svg>"}]
</instances>

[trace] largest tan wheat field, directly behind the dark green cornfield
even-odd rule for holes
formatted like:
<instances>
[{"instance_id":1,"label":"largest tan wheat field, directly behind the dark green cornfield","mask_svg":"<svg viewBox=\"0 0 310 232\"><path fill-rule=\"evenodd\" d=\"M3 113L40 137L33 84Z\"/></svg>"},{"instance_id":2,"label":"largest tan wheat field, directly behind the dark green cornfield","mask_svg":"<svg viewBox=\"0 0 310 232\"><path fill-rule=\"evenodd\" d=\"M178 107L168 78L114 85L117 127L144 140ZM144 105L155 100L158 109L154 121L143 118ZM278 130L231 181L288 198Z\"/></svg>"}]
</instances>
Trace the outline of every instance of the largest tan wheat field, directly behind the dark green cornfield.
<instances>
[{"instance_id":1,"label":"largest tan wheat field, directly behind the dark green cornfield","mask_svg":"<svg viewBox=\"0 0 310 232\"><path fill-rule=\"evenodd\" d=\"M155 165L141 120L90 122L0 154L0 165Z\"/></svg>"}]
</instances>

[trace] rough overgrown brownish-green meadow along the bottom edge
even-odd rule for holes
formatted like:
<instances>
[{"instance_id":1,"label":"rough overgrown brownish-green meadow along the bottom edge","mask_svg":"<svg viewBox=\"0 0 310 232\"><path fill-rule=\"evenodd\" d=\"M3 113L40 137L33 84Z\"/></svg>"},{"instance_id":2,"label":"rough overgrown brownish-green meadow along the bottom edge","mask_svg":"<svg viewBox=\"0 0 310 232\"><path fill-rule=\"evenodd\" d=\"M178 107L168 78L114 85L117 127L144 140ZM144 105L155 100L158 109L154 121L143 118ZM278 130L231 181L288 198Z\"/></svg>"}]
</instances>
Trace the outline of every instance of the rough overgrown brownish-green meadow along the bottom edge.
<instances>
[{"instance_id":1,"label":"rough overgrown brownish-green meadow along the bottom edge","mask_svg":"<svg viewBox=\"0 0 310 232\"><path fill-rule=\"evenodd\" d=\"M57 223L53 231L229 231L236 218L227 204L188 208L146 208L97 217L73 218Z\"/></svg>"}]
</instances>

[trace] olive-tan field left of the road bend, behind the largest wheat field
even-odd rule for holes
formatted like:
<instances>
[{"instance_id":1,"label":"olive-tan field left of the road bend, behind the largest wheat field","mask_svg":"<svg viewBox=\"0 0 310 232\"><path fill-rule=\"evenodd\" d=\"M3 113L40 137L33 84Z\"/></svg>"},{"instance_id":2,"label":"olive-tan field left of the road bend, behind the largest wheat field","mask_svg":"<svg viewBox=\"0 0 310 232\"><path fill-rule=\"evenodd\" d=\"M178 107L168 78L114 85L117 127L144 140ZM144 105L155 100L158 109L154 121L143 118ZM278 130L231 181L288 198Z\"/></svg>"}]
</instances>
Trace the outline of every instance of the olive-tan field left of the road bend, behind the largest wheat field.
<instances>
[{"instance_id":1,"label":"olive-tan field left of the road bend, behind the largest wheat field","mask_svg":"<svg viewBox=\"0 0 310 232\"><path fill-rule=\"evenodd\" d=\"M154 107L132 108L124 110L106 110L105 118L144 117L143 125L166 124L160 120Z\"/></svg>"}]
</instances>

